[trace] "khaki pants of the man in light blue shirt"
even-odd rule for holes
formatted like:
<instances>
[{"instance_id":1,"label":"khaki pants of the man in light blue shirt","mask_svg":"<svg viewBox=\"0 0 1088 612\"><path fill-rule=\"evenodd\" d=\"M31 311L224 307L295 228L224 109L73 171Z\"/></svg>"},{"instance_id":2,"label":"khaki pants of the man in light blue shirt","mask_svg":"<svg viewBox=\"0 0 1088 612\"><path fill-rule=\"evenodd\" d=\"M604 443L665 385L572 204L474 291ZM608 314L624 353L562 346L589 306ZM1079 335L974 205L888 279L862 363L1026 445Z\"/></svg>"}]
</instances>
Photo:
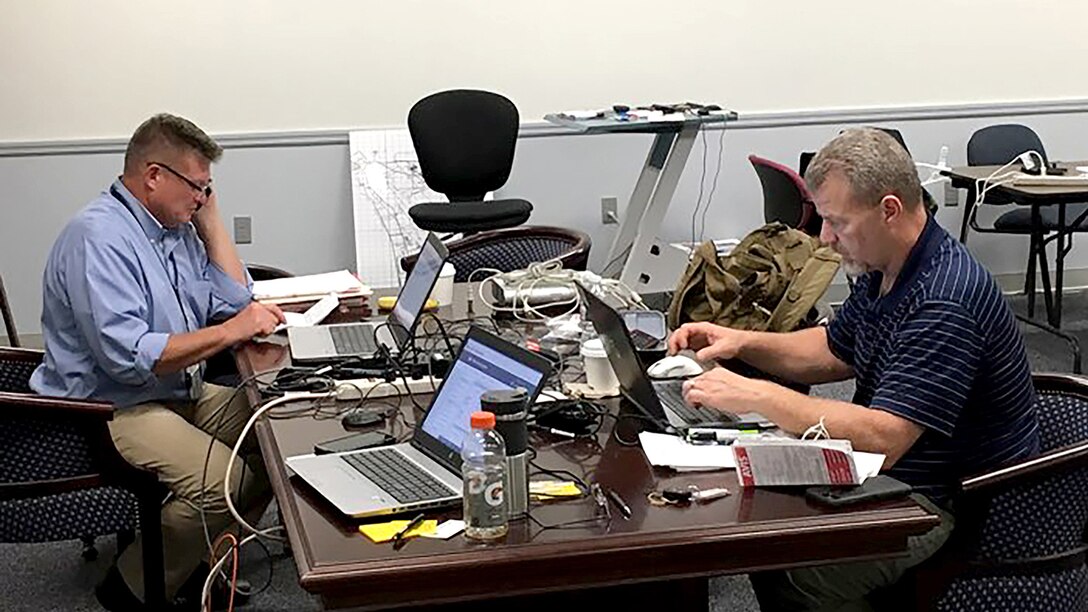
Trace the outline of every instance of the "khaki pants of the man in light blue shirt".
<instances>
[{"instance_id":1,"label":"khaki pants of the man in light blue shirt","mask_svg":"<svg viewBox=\"0 0 1088 612\"><path fill-rule=\"evenodd\" d=\"M200 561L208 558L205 522L212 541L234 525L223 500L226 462L252 411L242 392L224 405L232 393L233 389L206 384L196 402L121 408L110 423L110 434L121 456L136 467L153 472L170 490L162 506L168 599L177 593ZM251 433L231 474L231 501L249 524L260 518L271 500L268 474ZM205 522L200 518L201 505ZM121 576L140 599L144 597L141 537L137 536L118 559Z\"/></svg>"}]
</instances>

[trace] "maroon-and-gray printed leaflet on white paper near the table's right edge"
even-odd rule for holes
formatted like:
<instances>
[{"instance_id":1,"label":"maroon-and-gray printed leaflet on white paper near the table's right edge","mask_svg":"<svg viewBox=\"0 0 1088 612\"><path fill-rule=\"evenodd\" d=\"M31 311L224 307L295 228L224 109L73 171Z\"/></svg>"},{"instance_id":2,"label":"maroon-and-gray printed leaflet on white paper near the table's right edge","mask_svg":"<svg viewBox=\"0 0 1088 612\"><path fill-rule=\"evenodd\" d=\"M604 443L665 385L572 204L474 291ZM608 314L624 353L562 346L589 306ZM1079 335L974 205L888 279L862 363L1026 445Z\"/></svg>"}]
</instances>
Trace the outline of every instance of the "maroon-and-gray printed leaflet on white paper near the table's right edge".
<instances>
[{"instance_id":1,"label":"maroon-and-gray printed leaflet on white paper near the table's right edge","mask_svg":"<svg viewBox=\"0 0 1088 612\"><path fill-rule=\"evenodd\" d=\"M732 453L744 487L861 485L885 460L854 451L850 440L753 437L734 442Z\"/></svg>"}]
</instances>

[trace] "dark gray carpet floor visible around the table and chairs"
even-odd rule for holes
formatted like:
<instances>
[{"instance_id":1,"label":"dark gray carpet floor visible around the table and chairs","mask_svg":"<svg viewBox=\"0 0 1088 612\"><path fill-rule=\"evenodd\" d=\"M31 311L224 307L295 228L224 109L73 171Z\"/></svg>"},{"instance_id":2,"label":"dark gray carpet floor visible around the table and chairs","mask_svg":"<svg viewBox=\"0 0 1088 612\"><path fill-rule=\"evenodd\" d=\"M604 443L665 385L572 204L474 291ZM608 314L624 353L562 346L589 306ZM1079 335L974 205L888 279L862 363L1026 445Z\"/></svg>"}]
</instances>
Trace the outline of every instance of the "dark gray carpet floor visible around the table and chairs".
<instances>
[{"instance_id":1,"label":"dark gray carpet floor visible around the table and chairs","mask_svg":"<svg viewBox=\"0 0 1088 612\"><path fill-rule=\"evenodd\" d=\"M1024 313L1023 297L1012 297L1010 302L1014 310ZM1063 329L1088 346L1088 296L1067 294L1064 306L1066 322ZM1040 316L1037 313L1037 317ZM1022 325L1021 328L1024 331L1033 370L1072 371L1072 353L1064 341L1029 326ZM815 388L813 392L821 396L849 400L853 394L853 384L850 382L825 384ZM270 517L271 511L265 515L264 523L268 523ZM0 544L0 567L4 568L3 577L0 578L0 610L100 611L92 589L113 558L113 538L100 539L99 559L85 562L79 556L79 542ZM298 586L295 563L279 546L269 546L268 553L260 548L247 547L243 551L242 568L243 576L255 587L265 584L271 568L271 583L268 588L257 593L242 610L262 612L320 610L319 602ZM710 607L715 611L758 610L755 596L744 576L724 576L712 580Z\"/></svg>"}]
</instances>

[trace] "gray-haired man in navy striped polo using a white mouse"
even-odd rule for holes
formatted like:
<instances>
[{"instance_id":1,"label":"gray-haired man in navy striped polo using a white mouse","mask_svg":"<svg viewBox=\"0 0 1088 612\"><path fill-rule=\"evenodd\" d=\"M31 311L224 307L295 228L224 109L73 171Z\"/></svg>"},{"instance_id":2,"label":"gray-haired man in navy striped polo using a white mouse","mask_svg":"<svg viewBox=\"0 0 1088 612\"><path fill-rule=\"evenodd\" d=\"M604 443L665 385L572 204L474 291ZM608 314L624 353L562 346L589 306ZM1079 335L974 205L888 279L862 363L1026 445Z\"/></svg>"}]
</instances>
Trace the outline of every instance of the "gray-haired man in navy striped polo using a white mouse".
<instances>
[{"instance_id":1,"label":"gray-haired man in navy striped polo using a white mouse","mask_svg":"<svg viewBox=\"0 0 1088 612\"><path fill-rule=\"evenodd\" d=\"M886 474L914 487L941 525L910 539L905 558L752 576L764 610L865 610L948 539L953 486L1038 452L1035 391L1016 319L997 283L927 215L910 156L877 130L828 143L805 179L824 219L820 240L842 255L853 291L827 328L751 332L682 326L669 348L701 360L740 358L815 384L856 379L853 402L809 397L725 368L685 383L695 405L762 413L801 433L883 453Z\"/></svg>"}]
</instances>

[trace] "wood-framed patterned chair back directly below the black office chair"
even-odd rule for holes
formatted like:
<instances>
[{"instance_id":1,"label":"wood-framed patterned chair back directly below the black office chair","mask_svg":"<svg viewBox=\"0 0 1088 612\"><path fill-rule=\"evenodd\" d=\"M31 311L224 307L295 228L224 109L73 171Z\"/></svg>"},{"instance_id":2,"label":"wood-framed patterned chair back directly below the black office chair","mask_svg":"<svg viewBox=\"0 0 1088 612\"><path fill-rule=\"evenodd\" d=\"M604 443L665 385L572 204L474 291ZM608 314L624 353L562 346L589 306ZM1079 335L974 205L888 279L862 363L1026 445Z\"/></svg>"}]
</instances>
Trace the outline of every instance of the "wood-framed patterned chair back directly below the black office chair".
<instances>
[{"instance_id":1,"label":"wood-framed patterned chair back directly below the black office chair","mask_svg":"<svg viewBox=\"0 0 1088 612\"><path fill-rule=\"evenodd\" d=\"M470 279L479 281L477 270L494 269L502 272L520 270L530 264L558 259L567 270L585 270L590 259L590 236L578 230L524 225L480 232L446 243L448 261L457 269L455 282ZM410 272L416 255L400 259L400 268Z\"/></svg>"}]
</instances>

